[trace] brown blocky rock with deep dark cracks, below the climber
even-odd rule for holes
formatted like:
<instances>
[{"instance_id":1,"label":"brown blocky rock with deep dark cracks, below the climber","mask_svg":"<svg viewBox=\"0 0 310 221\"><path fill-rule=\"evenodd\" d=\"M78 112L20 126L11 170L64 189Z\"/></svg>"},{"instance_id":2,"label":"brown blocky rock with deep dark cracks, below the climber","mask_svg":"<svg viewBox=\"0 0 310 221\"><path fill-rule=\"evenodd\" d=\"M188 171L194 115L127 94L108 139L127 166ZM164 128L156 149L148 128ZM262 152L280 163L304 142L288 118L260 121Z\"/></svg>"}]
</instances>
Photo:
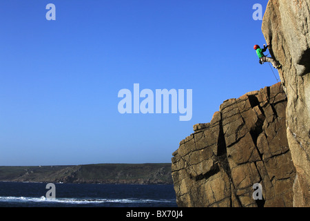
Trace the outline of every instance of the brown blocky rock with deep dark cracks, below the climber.
<instances>
[{"instance_id":1,"label":"brown blocky rock with deep dark cracks, below the climber","mask_svg":"<svg viewBox=\"0 0 310 221\"><path fill-rule=\"evenodd\" d=\"M278 83L228 99L211 122L194 125L172 157L178 206L293 206L286 106Z\"/></svg>"}]
</instances>

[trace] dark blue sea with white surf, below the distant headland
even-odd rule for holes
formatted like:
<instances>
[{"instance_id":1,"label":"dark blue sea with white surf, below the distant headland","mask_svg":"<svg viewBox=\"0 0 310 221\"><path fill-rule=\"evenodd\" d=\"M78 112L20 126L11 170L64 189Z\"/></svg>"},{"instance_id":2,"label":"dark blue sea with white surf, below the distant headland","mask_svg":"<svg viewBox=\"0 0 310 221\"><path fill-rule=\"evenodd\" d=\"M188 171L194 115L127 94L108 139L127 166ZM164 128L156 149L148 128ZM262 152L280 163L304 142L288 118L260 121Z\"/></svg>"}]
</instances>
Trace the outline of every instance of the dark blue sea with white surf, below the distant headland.
<instances>
[{"instance_id":1,"label":"dark blue sea with white surf, below the distant headland","mask_svg":"<svg viewBox=\"0 0 310 221\"><path fill-rule=\"evenodd\" d=\"M47 183L0 182L3 207L176 207L173 185L55 184L47 198Z\"/></svg>"}]
</instances>

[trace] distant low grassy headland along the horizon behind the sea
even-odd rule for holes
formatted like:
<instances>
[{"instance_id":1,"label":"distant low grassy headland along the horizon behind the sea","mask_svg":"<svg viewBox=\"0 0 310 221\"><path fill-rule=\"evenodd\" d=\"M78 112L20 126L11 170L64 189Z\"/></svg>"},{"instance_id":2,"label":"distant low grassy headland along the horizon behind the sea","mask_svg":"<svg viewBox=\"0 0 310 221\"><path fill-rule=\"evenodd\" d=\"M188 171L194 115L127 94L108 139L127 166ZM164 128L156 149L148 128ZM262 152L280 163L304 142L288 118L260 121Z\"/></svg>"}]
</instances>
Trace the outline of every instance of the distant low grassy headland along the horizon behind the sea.
<instances>
[{"instance_id":1,"label":"distant low grassy headland along the horizon behind the sea","mask_svg":"<svg viewBox=\"0 0 310 221\"><path fill-rule=\"evenodd\" d=\"M103 184L173 184L171 164L0 166L0 181Z\"/></svg>"}]
</instances>

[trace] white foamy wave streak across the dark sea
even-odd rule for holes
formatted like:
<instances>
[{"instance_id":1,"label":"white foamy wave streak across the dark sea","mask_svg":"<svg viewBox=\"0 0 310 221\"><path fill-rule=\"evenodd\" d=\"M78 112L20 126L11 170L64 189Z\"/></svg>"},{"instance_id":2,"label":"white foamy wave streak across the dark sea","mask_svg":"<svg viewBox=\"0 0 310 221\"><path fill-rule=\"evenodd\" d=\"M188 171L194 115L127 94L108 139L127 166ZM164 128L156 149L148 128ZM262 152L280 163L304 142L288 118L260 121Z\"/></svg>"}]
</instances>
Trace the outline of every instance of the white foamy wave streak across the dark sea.
<instances>
[{"instance_id":1,"label":"white foamy wave streak across the dark sea","mask_svg":"<svg viewBox=\"0 0 310 221\"><path fill-rule=\"evenodd\" d=\"M101 204L107 202L114 203L154 203L154 202L173 202L173 200L149 200L149 199L89 199L89 198L32 198L32 197L14 197L0 196L0 202L43 202L43 203L65 203L65 204Z\"/></svg>"}]
</instances>

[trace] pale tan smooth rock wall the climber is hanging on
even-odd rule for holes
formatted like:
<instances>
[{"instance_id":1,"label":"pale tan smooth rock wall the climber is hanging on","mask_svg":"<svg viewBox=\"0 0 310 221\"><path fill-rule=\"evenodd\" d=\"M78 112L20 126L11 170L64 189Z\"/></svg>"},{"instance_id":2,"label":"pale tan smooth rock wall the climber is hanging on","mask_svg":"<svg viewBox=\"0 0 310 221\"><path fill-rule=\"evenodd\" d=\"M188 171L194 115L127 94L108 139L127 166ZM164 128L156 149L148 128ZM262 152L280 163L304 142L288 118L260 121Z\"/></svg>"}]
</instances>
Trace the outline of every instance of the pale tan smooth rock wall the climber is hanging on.
<instances>
[{"instance_id":1,"label":"pale tan smooth rock wall the climber is hanging on","mask_svg":"<svg viewBox=\"0 0 310 221\"><path fill-rule=\"evenodd\" d=\"M287 139L296 179L293 206L310 206L310 0L270 0L262 21L287 94Z\"/></svg>"}]
</instances>

